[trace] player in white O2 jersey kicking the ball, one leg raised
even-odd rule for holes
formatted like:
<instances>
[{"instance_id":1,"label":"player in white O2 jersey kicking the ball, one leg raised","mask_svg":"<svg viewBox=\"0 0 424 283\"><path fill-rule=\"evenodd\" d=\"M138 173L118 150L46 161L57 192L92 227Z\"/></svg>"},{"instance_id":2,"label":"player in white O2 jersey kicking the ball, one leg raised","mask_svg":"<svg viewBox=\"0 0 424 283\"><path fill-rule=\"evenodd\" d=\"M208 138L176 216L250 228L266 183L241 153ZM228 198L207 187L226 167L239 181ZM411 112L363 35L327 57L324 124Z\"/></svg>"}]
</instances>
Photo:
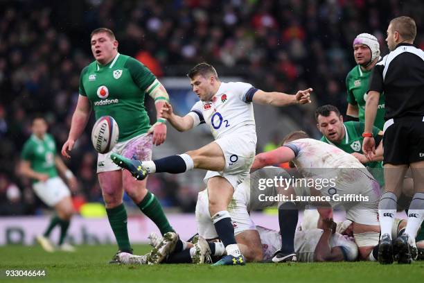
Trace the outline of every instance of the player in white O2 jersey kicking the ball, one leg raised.
<instances>
[{"instance_id":1,"label":"player in white O2 jersey kicking the ball, one leg raised","mask_svg":"<svg viewBox=\"0 0 424 283\"><path fill-rule=\"evenodd\" d=\"M215 68L206 63L196 65L188 73L188 77L193 92L199 96L200 101L195 103L191 112L184 117L174 114L168 103L161 110L161 114L181 132L206 123L215 141L195 151L161 160L141 162L115 154L112 155L112 160L131 171L139 180L154 172L184 173L193 168L209 170L205 177L209 212L227 250L227 256L216 264L245 264L234 239L234 229L227 207L234 189L245 179L254 160L256 126L251 102L274 106L304 104L310 102L312 89L288 95L281 92L263 92L248 83L222 83Z\"/></svg>"}]
</instances>

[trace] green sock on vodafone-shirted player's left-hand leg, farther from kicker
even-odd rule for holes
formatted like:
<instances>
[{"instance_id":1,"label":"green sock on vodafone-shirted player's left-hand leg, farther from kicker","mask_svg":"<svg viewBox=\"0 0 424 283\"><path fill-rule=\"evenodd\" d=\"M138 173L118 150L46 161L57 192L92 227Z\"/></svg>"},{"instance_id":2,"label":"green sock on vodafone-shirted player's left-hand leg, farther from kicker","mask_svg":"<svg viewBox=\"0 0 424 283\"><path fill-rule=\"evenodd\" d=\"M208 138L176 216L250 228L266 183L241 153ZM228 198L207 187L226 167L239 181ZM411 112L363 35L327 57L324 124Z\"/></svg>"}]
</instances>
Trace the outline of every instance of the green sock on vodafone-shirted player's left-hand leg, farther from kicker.
<instances>
[{"instance_id":1,"label":"green sock on vodafone-shirted player's left-hand leg, farther from kicker","mask_svg":"<svg viewBox=\"0 0 424 283\"><path fill-rule=\"evenodd\" d=\"M115 234L116 242L120 250L131 250L130 239L127 230L127 212L123 203L114 208L107 208L107 218L110 227Z\"/></svg>"}]
</instances>

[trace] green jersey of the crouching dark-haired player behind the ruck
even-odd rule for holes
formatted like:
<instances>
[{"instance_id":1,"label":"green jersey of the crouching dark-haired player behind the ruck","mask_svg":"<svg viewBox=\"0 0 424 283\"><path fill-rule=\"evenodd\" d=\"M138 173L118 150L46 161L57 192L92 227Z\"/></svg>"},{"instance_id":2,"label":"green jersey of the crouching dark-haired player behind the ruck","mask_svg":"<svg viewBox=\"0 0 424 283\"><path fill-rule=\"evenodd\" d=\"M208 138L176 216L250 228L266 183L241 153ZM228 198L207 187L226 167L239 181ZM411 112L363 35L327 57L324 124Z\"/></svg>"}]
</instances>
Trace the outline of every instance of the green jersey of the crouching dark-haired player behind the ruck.
<instances>
[{"instance_id":1,"label":"green jersey of the crouching dark-haired player behind the ruck","mask_svg":"<svg viewBox=\"0 0 424 283\"><path fill-rule=\"evenodd\" d=\"M339 144L335 144L329 141L325 136L321 137L321 141L324 141L327 144L333 144L333 146L337 146L342 151L346 153L362 153L362 141L364 138L362 137L362 132L364 132L365 123L356 122L356 121L348 121L344 122L344 138L340 141ZM373 136L376 137L380 130L374 126L373 127ZM382 141L380 141L382 142ZM382 161L374 161L368 162L364 164L366 168L373 174L374 178L380 183L380 185L384 185L384 175L382 170ZM370 170L371 169L371 170Z\"/></svg>"}]
</instances>

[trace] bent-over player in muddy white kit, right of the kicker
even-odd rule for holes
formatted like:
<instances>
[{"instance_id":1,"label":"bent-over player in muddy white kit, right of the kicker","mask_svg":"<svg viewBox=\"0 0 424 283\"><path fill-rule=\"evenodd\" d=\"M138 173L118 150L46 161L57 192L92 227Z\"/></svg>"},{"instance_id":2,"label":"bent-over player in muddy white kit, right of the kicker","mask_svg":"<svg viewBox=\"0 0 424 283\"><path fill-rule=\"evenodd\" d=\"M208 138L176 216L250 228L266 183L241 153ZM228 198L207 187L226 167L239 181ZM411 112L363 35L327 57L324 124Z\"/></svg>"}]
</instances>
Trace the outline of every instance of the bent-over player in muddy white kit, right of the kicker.
<instances>
[{"instance_id":1,"label":"bent-over player in muddy white kit, right of the kicker","mask_svg":"<svg viewBox=\"0 0 424 283\"><path fill-rule=\"evenodd\" d=\"M380 226L377 218L377 205L380 196L380 186L366 168L352 155L335 146L322 141L309 139L305 132L292 132L283 140L283 146L268 153L256 155L251 170L263 168L270 164L293 162L304 178L314 180L311 187L294 187L294 196L330 197L330 205L342 205L346 210L346 218L353 221L355 242L359 247L362 259L374 260L373 248L378 244ZM324 184L324 179L328 180ZM333 184L330 183L333 180ZM335 186L334 186L335 185ZM317 191L315 188L319 189ZM352 196L351 199L334 198L334 196ZM362 199L368 198L366 201ZM287 205L285 205L287 204ZM285 222L281 222L281 250L286 255L294 253L293 239L297 225L297 209L293 202L281 205ZM323 217L328 218L328 217Z\"/></svg>"}]
</instances>

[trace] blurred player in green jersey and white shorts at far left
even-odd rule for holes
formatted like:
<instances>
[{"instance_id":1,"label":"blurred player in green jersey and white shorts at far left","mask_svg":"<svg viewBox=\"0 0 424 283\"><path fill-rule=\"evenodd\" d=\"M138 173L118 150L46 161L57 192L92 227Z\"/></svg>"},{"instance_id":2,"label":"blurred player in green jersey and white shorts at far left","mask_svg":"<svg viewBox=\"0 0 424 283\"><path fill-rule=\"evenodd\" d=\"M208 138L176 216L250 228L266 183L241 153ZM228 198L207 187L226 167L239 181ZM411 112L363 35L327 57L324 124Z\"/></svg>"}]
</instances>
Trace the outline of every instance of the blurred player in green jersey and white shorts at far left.
<instances>
[{"instance_id":1,"label":"blurred player in green jersey and white shorts at far left","mask_svg":"<svg viewBox=\"0 0 424 283\"><path fill-rule=\"evenodd\" d=\"M71 192L58 176L58 170L67 178L69 186L77 187L77 180L56 153L56 144L47 133L47 123L43 117L35 117L31 130L33 135L24 144L21 153L21 174L33 179L35 194L49 207L54 207L56 214L51 218L44 234L37 236L37 241L47 252L55 250L48 239L53 228L60 226L59 250L73 252L75 248L64 243L69 223L73 214Z\"/></svg>"}]
</instances>

